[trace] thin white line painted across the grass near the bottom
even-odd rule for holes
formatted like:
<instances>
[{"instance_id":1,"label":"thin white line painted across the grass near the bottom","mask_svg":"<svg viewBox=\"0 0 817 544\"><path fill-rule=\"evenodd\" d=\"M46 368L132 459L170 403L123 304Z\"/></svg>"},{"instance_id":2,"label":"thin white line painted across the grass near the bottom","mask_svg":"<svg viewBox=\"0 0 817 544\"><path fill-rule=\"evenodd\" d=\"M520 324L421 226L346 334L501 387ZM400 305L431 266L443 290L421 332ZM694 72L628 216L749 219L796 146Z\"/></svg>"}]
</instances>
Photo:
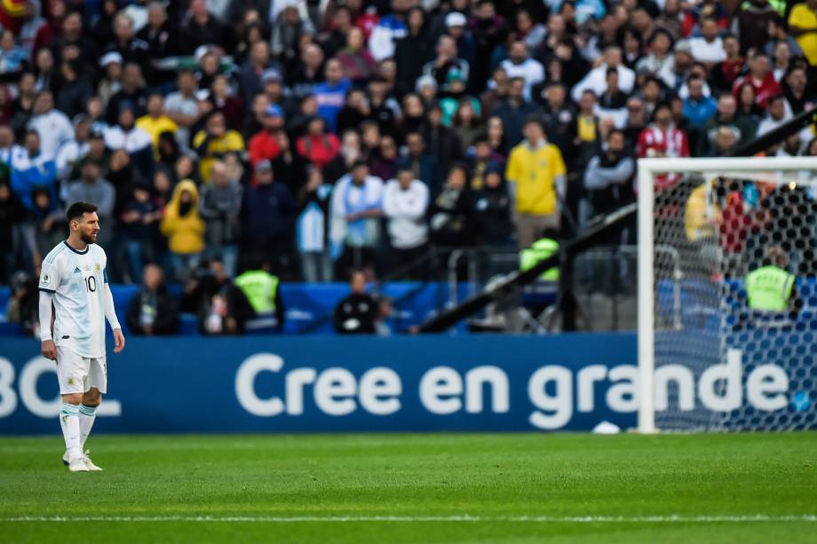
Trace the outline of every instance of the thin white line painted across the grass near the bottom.
<instances>
[{"instance_id":1,"label":"thin white line painted across the grass near the bottom","mask_svg":"<svg viewBox=\"0 0 817 544\"><path fill-rule=\"evenodd\" d=\"M797 516L8 516L0 523L183 522L183 523L553 523L553 524L723 524L817 522L817 515Z\"/></svg>"}]
</instances>

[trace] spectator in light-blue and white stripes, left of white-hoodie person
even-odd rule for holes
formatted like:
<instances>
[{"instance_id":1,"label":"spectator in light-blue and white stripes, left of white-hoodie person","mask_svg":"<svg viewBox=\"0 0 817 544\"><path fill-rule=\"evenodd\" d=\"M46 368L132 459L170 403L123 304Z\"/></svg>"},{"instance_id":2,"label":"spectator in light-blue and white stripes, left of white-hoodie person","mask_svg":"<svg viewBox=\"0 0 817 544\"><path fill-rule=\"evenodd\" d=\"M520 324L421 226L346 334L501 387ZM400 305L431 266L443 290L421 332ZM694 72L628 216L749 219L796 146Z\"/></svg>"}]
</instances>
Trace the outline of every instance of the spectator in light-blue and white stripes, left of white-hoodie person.
<instances>
[{"instance_id":1,"label":"spectator in light-blue and white stripes, left of white-hoodie person","mask_svg":"<svg viewBox=\"0 0 817 544\"><path fill-rule=\"evenodd\" d=\"M332 254L339 257L339 270L374 267L383 217L383 180L369 176L369 165L362 159L337 180L331 215Z\"/></svg>"}]
</instances>

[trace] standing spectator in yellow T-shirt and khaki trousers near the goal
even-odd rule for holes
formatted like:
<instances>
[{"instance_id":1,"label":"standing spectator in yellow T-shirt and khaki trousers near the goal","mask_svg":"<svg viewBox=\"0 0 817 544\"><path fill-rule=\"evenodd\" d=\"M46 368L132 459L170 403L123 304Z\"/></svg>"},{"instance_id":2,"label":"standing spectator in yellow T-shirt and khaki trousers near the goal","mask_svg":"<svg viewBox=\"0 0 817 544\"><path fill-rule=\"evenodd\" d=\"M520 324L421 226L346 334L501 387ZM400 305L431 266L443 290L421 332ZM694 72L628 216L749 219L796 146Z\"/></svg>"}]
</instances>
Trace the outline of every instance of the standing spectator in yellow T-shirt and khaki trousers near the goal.
<instances>
[{"instance_id":1,"label":"standing spectator in yellow T-shirt and khaki trousers near the goal","mask_svg":"<svg viewBox=\"0 0 817 544\"><path fill-rule=\"evenodd\" d=\"M538 118L528 118L522 134L525 139L511 150L505 177L514 201L520 248L529 248L545 230L559 229L557 193L562 197L565 194L567 169L559 147L544 138Z\"/></svg>"}]
</instances>

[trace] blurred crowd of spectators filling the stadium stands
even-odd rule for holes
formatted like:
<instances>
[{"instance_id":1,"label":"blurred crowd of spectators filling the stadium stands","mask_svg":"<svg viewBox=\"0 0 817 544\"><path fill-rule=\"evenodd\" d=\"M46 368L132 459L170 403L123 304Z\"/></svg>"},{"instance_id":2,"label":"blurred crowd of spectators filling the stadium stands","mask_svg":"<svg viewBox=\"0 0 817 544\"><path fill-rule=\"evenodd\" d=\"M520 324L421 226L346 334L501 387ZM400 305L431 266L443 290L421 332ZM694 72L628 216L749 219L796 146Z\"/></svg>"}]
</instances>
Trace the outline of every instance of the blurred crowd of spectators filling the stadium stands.
<instances>
[{"instance_id":1,"label":"blurred crowd of spectators filling the stadium stands","mask_svg":"<svg viewBox=\"0 0 817 544\"><path fill-rule=\"evenodd\" d=\"M631 199L638 157L722 156L817 97L817 0L9 0L0 25L5 284L78 200L119 282L524 248Z\"/></svg>"}]
</instances>

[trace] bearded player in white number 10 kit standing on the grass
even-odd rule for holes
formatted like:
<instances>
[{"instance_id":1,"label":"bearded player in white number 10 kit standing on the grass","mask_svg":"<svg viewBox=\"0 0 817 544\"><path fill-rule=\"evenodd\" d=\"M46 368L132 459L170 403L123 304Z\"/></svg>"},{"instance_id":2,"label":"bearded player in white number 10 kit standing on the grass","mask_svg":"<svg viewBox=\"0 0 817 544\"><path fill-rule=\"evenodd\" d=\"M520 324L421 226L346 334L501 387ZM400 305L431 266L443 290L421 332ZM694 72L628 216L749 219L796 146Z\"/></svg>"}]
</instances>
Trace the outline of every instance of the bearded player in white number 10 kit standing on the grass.
<instances>
[{"instance_id":1,"label":"bearded player in white number 10 kit standing on the grass","mask_svg":"<svg viewBox=\"0 0 817 544\"><path fill-rule=\"evenodd\" d=\"M101 470L83 453L83 445L107 390L105 318L114 329L115 353L123 351L125 337L107 285L107 256L94 243L97 207L75 202L66 215L68 239L45 257L40 273L40 340L43 356L57 361L59 424L66 445L62 461L71 472L86 472Z\"/></svg>"}]
</instances>

